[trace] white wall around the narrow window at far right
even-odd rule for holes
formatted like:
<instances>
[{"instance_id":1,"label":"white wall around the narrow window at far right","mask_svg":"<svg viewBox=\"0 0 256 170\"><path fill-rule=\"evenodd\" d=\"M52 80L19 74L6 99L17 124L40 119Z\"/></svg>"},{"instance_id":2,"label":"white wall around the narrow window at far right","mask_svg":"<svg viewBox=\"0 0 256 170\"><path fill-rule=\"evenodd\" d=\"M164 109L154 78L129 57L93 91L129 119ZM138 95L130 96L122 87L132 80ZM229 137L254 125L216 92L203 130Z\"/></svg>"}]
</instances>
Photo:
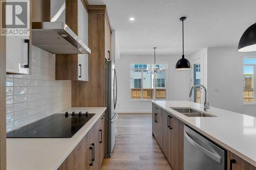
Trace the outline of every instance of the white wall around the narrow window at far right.
<instances>
[{"instance_id":1,"label":"white wall around the narrow window at far right","mask_svg":"<svg viewBox=\"0 0 256 170\"><path fill-rule=\"evenodd\" d=\"M209 47L208 92L210 106L256 116L256 105L243 104L243 57L237 47Z\"/></svg>"}]
</instances>

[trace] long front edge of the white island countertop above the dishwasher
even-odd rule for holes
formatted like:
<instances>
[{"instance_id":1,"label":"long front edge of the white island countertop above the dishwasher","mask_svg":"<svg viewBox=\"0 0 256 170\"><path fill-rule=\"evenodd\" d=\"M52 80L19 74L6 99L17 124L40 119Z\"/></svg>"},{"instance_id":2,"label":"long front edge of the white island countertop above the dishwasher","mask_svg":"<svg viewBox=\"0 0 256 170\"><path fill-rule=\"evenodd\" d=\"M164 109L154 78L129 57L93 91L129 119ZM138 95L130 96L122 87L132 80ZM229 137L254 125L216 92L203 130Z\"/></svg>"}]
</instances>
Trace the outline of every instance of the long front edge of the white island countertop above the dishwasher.
<instances>
[{"instance_id":1,"label":"long front edge of the white island countertop above the dishwasher","mask_svg":"<svg viewBox=\"0 0 256 170\"><path fill-rule=\"evenodd\" d=\"M187 102L187 101L186 101ZM164 107L162 107L161 105L158 105L155 101L152 101L152 103L154 103L155 105L159 106L160 108L162 108L163 110L165 110L166 112L172 114L173 116L175 116L176 118L178 118L179 120L181 120L183 123L185 123L186 125L190 126L191 128L193 128L194 130L198 131L199 133L203 134L204 136L206 136L207 138L211 139L212 141L216 142L217 144L221 145L223 148L225 148L226 150L236 154L237 156L239 156L240 158L244 159L245 161L247 161L248 163L252 164L253 166L256 167L256 161L249 158L248 156L240 153L239 151L229 147L229 145L225 144L224 142L220 141L219 139L212 137L211 135L207 134L206 132L204 132L203 130L197 128L196 126L190 124L189 122L187 122L186 120L184 120L183 118L181 118L180 116L170 112L169 110L165 109ZM179 113L181 114L181 113Z\"/></svg>"}]
</instances>

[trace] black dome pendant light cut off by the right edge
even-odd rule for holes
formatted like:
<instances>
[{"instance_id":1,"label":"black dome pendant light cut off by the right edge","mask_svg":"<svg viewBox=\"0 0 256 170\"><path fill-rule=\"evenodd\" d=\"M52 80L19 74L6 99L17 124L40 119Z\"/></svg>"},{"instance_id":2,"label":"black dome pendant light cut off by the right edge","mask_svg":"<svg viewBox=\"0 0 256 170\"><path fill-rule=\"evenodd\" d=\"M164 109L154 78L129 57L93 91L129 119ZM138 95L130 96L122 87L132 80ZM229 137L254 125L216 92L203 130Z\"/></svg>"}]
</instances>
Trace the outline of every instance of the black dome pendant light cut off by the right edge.
<instances>
[{"instance_id":1,"label":"black dome pendant light cut off by the right edge","mask_svg":"<svg viewBox=\"0 0 256 170\"><path fill-rule=\"evenodd\" d=\"M238 44L239 52L254 52L256 51L256 23L251 25L240 38Z\"/></svg>"}]
</instances>

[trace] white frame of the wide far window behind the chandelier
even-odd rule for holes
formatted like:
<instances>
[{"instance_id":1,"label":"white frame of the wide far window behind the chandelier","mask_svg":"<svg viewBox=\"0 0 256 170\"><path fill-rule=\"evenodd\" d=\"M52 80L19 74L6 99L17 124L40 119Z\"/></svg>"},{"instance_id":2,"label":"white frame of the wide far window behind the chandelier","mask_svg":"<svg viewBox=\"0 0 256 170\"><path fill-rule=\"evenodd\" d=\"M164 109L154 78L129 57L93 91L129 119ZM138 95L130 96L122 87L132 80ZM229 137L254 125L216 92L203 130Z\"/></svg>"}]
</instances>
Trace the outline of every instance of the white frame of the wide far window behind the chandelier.
<instances>
[{"instance_id":1,"label":"white frame of the wide far window behind the chandelier","mask_svg":"<svg viewBox=\"0 0 256 170\"><path fill-rule=\"evenodd\" d=\"M138 69L132 69L131 68L131 65L132 64L154 64L154 62L150 62L150 61L134 61L134 62L129 62L129 71L130 71L130 80L132 79L132 75L131 75L131 71L132 70L138 70ZM159 64L165 64L166 65L166 68L165 68L165 99L156 99L156 76L154 76L154 79L153 79L153 88L154 88L154 98L153 99L143 99L143 90L141 90L141 99L131 99L131 89L132 89L132 86L131 86L131 83L130 83L130 102L151 102L151 101L164 101L166 99L168 99L168 86L167 85L167 82L168 82L168 62L167 61L159 61L157 62L156 65L159 65ZM156 73L155 73L156 74ZM141 89L143 89L143 68L141 69Z\"/></svg>"}]
</instances>

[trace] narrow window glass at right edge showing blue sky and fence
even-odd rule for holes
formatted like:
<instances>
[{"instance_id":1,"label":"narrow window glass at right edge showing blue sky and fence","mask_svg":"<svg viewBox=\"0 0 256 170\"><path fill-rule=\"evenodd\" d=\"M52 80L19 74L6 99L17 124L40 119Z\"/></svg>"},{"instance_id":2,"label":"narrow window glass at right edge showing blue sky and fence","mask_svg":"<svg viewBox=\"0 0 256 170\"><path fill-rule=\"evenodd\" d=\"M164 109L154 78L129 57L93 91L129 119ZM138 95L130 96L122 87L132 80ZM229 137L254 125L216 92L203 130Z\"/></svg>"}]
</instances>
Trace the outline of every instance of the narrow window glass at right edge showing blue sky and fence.
<instances>
[{"instance_id":1,"label":"narrow window glass at right edge showing blue sky and fence","mask_svg":"<svg viewBox=\"0 0 256 170\"><path fill-rule=\"evenodd\" d=\"M256 58L244 58L243 91L244 103L254 103L254 71Z\"/></svg>"}]
</instances>

